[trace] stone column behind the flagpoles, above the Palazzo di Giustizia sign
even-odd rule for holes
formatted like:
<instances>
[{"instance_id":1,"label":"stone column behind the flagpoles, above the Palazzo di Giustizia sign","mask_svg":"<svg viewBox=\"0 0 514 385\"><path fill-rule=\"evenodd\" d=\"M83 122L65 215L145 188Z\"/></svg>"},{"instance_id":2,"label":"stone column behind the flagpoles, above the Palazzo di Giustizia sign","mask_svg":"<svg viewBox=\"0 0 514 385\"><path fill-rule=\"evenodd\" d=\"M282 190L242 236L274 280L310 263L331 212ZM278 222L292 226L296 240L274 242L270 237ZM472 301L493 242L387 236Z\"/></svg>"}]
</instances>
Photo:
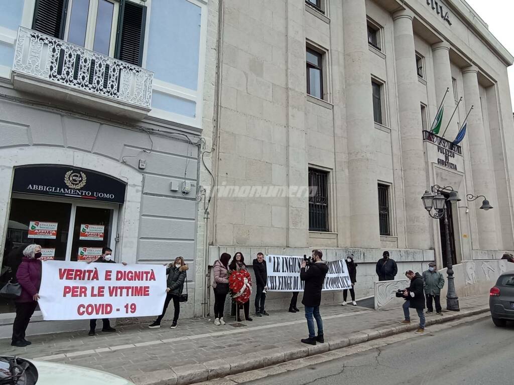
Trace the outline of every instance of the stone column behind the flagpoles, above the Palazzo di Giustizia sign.
<instances>
[{"instance_id":1,"label":"stone column behind the flagpoles, above the Palazzo di Giustizia sign","mask_svg":"<svg viewBox=\"0 0 514 385\"><path fill-rule=\"evenodd\" d=\"M446 42L436 43L432 46L432 52L434 60L436 108L439 107L439 104L443 100L443 96L446 92L446 89L449 89L444 102L443 123L441 124L441 129L439 131L439 136L442 136L446 126L448 125L448 122L450 121L451 114L455 109L455 98L453 95L453 83L450 67L450 45ZM437 110L434 113L437 113ZM450 141L455 138L458 132L458 127L456 123L457 120L458 113L455 112L455 115L450 125L448 126L448 130L445 134L445 138ZM432 123L432 121L433 119L430 121L430 124Z\"/></svg>"}]
</instances>

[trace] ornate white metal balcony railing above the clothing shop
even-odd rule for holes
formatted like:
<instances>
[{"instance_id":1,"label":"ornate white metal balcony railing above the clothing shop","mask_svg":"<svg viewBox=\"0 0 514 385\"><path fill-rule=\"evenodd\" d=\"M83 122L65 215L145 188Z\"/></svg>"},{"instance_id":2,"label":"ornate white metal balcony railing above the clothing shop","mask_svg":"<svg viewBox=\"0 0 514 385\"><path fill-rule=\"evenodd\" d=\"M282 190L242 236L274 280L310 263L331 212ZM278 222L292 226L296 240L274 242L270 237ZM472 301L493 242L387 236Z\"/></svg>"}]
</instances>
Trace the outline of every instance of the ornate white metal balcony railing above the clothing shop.
<instances>
[{"instance_id":1,"label":"ornate white metal balcony railing above the clothing shop","mask_svg":"<svg viewBox=\"0 0 514 385\"><path fill-rule=\"evenodd\" d=\"M150 110L153 72L19 27L13 76L29 75Z\"/></svg>"}]
</instances>

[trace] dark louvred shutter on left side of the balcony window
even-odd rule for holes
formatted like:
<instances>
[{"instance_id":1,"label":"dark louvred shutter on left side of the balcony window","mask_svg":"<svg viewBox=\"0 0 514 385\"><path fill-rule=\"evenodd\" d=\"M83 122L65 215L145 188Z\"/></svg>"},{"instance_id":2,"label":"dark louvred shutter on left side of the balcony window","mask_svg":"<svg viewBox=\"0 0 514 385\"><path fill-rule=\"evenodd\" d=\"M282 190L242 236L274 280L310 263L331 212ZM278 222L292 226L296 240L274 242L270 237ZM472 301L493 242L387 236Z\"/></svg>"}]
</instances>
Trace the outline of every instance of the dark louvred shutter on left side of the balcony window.
<instances>
[{"instance_id":1,"label":"dark louvred shutter on left side of the balcony window","mask_svg":"<svg viewBox=\"0 0 514 385\"><path fill-rule=\"evenodd\" d=\"M62 39L68 0L36 0L32 29Z\"/></svg>"}]
</instances>

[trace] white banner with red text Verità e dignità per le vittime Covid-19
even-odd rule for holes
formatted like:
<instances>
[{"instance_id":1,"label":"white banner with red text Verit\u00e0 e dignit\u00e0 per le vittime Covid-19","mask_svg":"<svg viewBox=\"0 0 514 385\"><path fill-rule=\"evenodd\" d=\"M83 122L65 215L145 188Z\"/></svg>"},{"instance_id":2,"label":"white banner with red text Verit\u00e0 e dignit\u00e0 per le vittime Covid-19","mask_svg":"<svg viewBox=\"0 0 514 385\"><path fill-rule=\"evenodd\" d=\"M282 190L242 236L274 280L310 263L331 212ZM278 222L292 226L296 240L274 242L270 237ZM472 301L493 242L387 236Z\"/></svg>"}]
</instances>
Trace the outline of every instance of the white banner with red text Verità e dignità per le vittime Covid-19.
<instances>
[{"instance_id":1,"label":"white banner with red text Verit\u00e0 e dignit\u00e0 per le vittime Covid-19","mask_svg":"<svg viewBox=\"0 0 514 385\"><path fill-rule=\"evenodd\" d=\"M44 261L39 306L45 321L162 313L166 267Z\"/></svg>"}]
</instances>

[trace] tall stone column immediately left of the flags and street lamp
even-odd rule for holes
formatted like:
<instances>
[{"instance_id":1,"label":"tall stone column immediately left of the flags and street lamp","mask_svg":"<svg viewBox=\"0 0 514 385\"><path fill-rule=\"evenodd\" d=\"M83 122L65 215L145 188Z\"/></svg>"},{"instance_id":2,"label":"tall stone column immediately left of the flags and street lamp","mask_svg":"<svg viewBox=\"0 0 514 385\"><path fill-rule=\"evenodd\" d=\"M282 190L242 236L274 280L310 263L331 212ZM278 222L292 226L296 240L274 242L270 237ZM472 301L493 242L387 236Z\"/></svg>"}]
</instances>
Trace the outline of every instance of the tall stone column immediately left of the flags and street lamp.
<instances>
[{"instance_id":1,"label":"tall stone column immediately left of the flags and street lamp","mask_svg":"<svg viewBox=\"0 0 514 385\"><path fill-rule=\"evenodd\" d=\"M407 247L428 249L431 246L429 222L431 219L421 202L421 196L427 189L427 174L423 151L421 107L417 94L413 17L413 13L407 10L393 14L401 163Z\"/></svg>"}]
</instances>

